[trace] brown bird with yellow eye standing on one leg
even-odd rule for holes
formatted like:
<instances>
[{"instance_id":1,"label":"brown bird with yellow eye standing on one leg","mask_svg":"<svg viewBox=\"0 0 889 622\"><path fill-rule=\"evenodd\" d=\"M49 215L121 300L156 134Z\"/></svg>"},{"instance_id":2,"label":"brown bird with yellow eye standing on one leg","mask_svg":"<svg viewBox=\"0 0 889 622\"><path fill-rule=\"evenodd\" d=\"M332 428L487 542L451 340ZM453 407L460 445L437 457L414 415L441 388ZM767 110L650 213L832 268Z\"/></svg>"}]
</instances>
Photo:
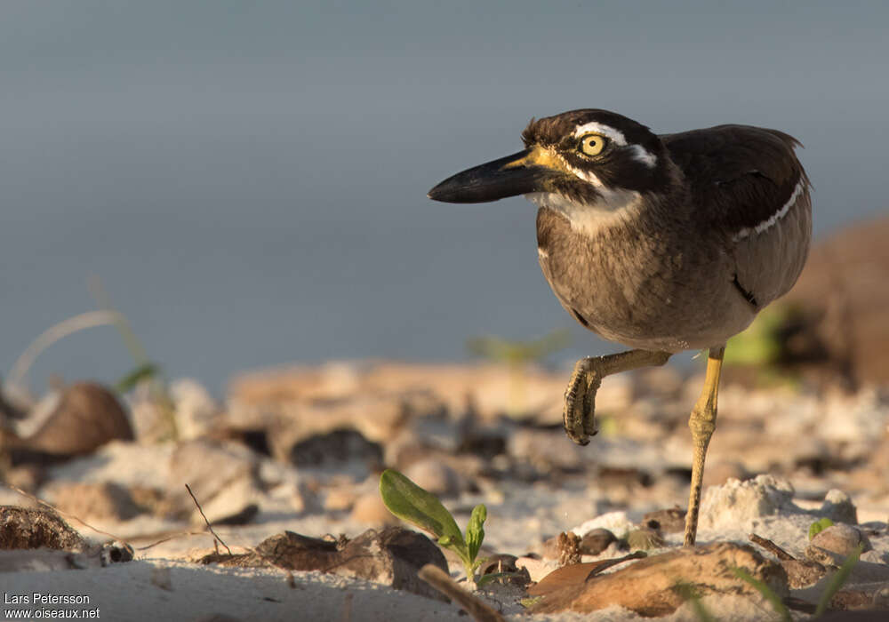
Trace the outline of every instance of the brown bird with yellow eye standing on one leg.
<instances>
[{"instance_id":1,"label":"brown bird with yellow eye standing on one leg","mask_svg":"<svg viewBox=\"0 0 889 622\"><path fill-rule=\"evenodd\" d=\"M428 197L538 206L537 251L556 298L582 326L629 347L578 361L565 389L565 432L597 432L602 379L707 350L688 425L693 456L684 546L694 546L703 469L716 428L725 343L805 265L811 183L785 132L725 124L655 134L598 108L532 119L525 148L445 179Z\"/></svg>"}]
</instances>

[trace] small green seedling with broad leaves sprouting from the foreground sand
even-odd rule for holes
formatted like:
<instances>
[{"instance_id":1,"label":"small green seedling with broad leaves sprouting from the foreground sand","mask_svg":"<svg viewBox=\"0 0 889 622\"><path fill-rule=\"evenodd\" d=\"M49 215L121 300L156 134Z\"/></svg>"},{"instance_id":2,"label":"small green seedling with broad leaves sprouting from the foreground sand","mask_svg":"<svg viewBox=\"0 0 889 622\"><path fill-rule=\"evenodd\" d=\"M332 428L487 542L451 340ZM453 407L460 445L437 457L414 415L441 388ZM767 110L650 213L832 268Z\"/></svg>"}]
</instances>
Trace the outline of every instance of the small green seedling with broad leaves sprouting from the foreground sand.
<instances>
[{"instance_id":1,"label":"small green seedling with broad leaves sprouting from the foreground sand","mask_svg":"<svg viewBox=\"0 0 889 622\"><path fill-rule=\"evenodd\" d=\"M484 504L473 508L464 537L453 515L435 495L397 471L386 469L380 475L380 496L389 512L428 531L436 537L439 546L457 554L463 562L466 578L478 586L476 570L484 562L478 559L478 550L485 539L484 526L488 514Z\"/></svg>"}]
</instances>

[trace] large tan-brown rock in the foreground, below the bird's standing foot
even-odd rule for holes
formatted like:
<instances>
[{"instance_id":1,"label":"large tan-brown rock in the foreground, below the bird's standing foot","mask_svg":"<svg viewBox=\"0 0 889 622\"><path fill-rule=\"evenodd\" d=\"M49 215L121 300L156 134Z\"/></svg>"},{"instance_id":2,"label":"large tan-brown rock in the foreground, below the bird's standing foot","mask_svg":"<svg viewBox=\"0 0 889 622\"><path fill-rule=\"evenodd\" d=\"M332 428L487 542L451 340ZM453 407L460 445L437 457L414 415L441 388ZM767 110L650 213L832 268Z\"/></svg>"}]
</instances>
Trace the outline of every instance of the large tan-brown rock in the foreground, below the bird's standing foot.
<instances>
[{"instance_id":1,"label":"large tan-brown rock in the foreground, below the bird's standing foot","mask_svg":"<svg viewBox=\"0 0 889 622\"><path fill-rule=\"evenodd\" d=\"M547 594L531 612L589 613L619 605L646 617L666 616L685 602L677 590L677 581L690 584L701 596L758 595L734 575L733 568L747 570L781 597L789 594L787 574L778 563L765 560L750 546L724 542L647 557L612 574L590 578L581 585L565 586Z\"/></svg>"}]
</instances>

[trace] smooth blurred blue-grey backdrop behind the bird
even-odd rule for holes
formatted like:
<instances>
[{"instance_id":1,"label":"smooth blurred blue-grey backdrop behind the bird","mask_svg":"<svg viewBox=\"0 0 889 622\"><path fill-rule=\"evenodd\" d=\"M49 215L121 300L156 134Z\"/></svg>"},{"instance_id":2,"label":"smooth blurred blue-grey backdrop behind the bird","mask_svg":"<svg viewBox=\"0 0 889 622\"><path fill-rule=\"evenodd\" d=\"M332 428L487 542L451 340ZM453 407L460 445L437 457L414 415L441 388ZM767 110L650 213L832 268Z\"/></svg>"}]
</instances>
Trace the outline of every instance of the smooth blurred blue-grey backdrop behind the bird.
<instances>
[{"instance_id":1,"label":"smooth blurred blue-grey backdrop behind the bird","mask_svg":"<svg viewBox=\"0 0 889 622\"><path fill-rule=\"evenodd\" d=\"M426 191L520 148L532 116L611 108L805 143L819 235L886 207L882 2L0 4L0 373L102 283L172 376L461 359L571 319L522 198ZM573 328L563 358L603 353ZM44 386L132 366L110 328Z\"/></svg>"}]
</instances>

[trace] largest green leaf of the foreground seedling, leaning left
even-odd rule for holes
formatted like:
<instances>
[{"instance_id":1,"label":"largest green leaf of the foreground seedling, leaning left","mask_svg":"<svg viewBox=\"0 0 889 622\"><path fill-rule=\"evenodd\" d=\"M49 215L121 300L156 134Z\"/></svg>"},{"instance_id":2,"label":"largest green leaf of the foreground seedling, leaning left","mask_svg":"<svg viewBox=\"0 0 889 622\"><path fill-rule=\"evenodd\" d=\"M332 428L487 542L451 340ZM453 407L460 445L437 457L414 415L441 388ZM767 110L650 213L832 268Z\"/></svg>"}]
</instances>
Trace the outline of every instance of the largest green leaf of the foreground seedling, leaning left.
<instances>
[{"instance_id":1,"label":"largest green leaf of the foreground seedling, leaning left","mask_svg":"<svg viewBox=\"0 0 889 622\"><path fill-rule=\"evenodd\" d=\"M380 475L380 496L388 511L403 521L434 535L442 546L461 556L466 543L457 522L435 495L423 490L403 474L386 469Z\"/></svg>"}]
</instances>

